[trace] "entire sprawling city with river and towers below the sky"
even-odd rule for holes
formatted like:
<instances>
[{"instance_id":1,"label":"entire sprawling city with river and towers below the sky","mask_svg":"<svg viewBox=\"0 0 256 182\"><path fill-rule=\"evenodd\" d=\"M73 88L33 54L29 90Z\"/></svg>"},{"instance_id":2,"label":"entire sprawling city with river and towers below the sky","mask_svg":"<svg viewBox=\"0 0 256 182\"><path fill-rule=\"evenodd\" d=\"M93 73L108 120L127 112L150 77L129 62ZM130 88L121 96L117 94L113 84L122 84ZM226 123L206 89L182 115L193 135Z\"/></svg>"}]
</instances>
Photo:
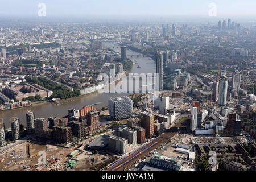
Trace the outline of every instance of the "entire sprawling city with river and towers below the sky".
<instances>
[{"instance_id":1,"label":"entire sprawling city with river and towers below the sky","mask_svg":"<svg viewBox=\"0 0 256 182\"><path fill-rule=\"evenodd\" d=\"M208 4L0 18L0 171L255 171L256 16Z\"/></svg>"}]
</instances>

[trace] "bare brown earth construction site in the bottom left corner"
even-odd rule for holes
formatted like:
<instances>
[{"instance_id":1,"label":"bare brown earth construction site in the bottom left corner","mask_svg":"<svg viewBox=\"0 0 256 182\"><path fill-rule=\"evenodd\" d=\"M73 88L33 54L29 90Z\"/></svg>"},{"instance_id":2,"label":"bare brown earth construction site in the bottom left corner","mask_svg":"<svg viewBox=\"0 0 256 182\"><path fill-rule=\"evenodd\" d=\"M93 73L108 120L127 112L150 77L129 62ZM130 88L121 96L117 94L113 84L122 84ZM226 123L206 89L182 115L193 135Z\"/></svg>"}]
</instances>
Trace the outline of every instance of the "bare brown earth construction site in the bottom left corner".
<instances>
[{"instance_id":1,"label":"bare brown earth construction site in the bottom left corner","mask_svg":"<svg viewBox=\"0 0 256 182\"><path fill-rule=\"evenodd\" d=\"M46 164L38 165L40 151L46 153ZM25 142L2 152L0 170L2 171L48 171L63 170L64 162L72 148Z\"/></svg>"}]
</instances>

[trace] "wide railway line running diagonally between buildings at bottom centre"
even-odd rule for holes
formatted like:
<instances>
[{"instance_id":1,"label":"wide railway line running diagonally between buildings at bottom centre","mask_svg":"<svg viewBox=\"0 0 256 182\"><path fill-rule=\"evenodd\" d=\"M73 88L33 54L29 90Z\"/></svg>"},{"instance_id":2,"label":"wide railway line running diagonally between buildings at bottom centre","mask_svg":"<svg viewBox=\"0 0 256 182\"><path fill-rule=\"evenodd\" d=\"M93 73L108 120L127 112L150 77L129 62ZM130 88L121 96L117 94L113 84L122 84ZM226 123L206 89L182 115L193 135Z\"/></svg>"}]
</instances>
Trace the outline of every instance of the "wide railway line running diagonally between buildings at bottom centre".
<instances>
[{"instance_id":1,"label":"wide railway line running diagonally between buildings at bottom centre","mask_svg":"<svg viewBox=\"0 0 256 182\"><path fill-rule=\"evenodd\" d=\"M168 131L165 133L162 133L159 135L159 137L150 140L146 145L142 146L141 148L138 148L136 151L132 152L131 154L127 155L125 158L119 159L114 164L111 164L109 167L105 168L105 170L108 171L123 171L127 169L128 167L132 166L134 163L138 162L141 158L144 156L150 154L151 151L155 150L159 146L161 146L163 143L168 142L172 137L174 137L177 133L179 133L179 130L182 128L187 127L187 120L190 118L190 116L184 118L182 121L178 122L174 127L171 127Z\"/></svg>"}]
</instances>

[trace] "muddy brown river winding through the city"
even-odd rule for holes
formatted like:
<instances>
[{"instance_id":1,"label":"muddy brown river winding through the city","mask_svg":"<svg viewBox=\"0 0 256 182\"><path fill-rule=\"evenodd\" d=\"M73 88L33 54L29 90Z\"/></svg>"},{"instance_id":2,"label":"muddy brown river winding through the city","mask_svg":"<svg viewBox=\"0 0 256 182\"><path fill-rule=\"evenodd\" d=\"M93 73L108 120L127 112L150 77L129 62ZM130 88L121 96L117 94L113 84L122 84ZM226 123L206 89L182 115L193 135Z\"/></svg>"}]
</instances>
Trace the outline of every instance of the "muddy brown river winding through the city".
<instances>
[{"instance_id":1,"label":"muddy brown river winding through the city","mask_svg":"<svg viewBox=\"0 0 256 182\"><path fill-rule=\"evenodd\" d=\"M121 52L121 48L114 43L108 42L104 43L105 47L111 47L116 52ZM129 55L133 55L131 58ZM137 57L136 55L140 55ZM138 65L141 68L137 67L137 64L133 65L133 69L130 73L155 73L155 61L150 57L142 57L141 53L131 51L127 49L127 58L131 60L136 60ZM75 108L80 109L85 105L92 105L97 102L101 102L101 104L94 105L96 108L101 108L108 106L108 98L109 97L120 97L125 96L127 94L117 94L117 93L98 93L94 92L85 96L70 98L68 100L60 101L61 105L56 105L55 103L44 103L44 104L34 104L30 107L23 107L19 109L0 111L0 118L3 118L3 122L6 127L10 127L10 118L18 117L20 119L20 123L26 126L26 111L32 110L35 112L35 118L48 118L48 117L63 117L68 115L68 109Z\"/></svg>"}]
</instances>

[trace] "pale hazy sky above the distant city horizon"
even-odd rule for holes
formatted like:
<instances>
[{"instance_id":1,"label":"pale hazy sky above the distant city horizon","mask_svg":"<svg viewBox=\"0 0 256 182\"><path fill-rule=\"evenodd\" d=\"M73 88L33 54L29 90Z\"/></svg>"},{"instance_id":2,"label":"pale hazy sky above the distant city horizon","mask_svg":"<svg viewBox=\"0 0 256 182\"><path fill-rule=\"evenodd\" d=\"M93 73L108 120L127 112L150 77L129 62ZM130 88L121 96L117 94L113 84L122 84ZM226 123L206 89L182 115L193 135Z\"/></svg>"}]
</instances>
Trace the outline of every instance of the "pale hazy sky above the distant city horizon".
<instances>
[{"instance_id":1,"label":"pale hazy sky above the distant city horizon","mask_svg":"<svg viewBox=\"0 0 256 182\"><path fill-rule=\"evenodd\" d=\"M38 4L46 4L46 16L160 15L208 16L216 3L219 17L256 18L255 0L1 0L0 16L38 16Z\"/></svg>"}]
</instances>

